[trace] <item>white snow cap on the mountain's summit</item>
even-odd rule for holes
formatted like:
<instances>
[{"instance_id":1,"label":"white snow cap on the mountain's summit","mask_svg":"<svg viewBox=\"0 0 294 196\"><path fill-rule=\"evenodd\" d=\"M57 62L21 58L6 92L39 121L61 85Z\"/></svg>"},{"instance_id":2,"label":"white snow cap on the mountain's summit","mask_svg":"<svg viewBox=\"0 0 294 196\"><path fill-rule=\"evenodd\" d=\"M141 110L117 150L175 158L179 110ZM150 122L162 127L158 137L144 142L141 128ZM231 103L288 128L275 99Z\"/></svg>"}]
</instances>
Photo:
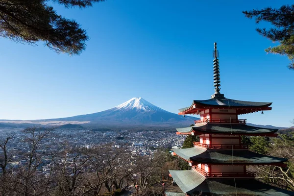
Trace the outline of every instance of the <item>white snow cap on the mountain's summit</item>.
<instances>
[{"instance_id":1,"label":"white snow cap on the mountain's summit","mask_svg":"<svg viewBox=\"0 0 294 196\"><path fill-rule=\"evenodd\" d=\"M144 98L131 98L130 100L116 106L115 109L118 109L118 110L136 109L136 110L143 110L143 111L162 110L161 108L153 105L152 103L149 103Z\"/></svg>"}]
</instances>

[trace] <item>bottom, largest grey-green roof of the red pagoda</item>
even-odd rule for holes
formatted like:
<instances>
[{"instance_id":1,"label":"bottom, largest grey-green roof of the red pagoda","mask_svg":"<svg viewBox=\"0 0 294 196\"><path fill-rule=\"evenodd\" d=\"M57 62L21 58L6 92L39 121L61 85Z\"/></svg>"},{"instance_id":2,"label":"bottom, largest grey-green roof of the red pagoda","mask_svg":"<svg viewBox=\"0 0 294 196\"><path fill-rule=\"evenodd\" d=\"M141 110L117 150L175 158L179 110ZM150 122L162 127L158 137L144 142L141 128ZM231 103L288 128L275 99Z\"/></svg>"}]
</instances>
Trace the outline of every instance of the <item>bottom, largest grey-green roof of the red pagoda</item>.
<instances>
[{"instance_id":1,"label":"bottom, largest grey-green roof of the red pagoda","mask_svg":"<svg viewBox=\"0 0 294 196\"><path fill-rule=\"evenodd\" d=\"M215 196L293 196L294 192L270 186L254 179L205 179L193 170L169 171L179 188L186 194L200 192ZM204 178L204 179L203 179Z\"/></svg>"}]
</instances>

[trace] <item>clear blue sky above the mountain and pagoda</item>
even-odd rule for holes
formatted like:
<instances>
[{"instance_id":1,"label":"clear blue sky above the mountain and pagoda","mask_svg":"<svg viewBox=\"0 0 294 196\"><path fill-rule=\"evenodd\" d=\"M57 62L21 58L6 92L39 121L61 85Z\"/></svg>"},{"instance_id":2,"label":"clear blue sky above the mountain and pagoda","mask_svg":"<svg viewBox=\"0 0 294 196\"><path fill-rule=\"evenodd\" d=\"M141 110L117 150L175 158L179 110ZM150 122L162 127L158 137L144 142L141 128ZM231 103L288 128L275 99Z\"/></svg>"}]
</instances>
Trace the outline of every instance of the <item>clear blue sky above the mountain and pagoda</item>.
<instances>
[{"instance_id":1,"label":"clear blue sky above the mountain and pagoda","mask_svg":"<svg viewBox=\"0 0 294 196\"><path fill-rule=\"evenodd\" d=\"M90 40L79 56L0 39L0 119L32 120L89 114L133 98L173 113L208 99L213 43L220 51L226 98L270 101L272 111L242 116L250 123L291 126L294 71L260 36L242 10L280 7L276 0L107 0L57 12L75 19Z\"/></svg>"}]
</instances>

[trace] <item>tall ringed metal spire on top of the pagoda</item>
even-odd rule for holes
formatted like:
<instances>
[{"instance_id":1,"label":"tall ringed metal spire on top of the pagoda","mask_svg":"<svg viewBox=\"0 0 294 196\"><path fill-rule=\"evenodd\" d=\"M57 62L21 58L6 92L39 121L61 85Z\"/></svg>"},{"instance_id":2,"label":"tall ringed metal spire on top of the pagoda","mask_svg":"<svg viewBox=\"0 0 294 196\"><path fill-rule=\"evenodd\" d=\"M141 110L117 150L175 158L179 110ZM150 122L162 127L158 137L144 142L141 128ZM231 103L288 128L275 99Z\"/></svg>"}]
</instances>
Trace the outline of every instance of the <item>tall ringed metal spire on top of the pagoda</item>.
<instances>
[{"instance_id":1,"label":"tall ringed metal spire on top of the pagoda","mask_svg":"<svg viewBox=\"0 0 294 196\"><path fill-rule=\"evenodd\" d=\"M223 94L220 93L221 88L221 78L220 78L220 66L219 66L219 50L217 50L217 43L214 43L215 49L213 50L213 76L214 76L214 87L215 87L215 93L211 96L211 98L223 98Z\"/></svg>"}]
</instances>

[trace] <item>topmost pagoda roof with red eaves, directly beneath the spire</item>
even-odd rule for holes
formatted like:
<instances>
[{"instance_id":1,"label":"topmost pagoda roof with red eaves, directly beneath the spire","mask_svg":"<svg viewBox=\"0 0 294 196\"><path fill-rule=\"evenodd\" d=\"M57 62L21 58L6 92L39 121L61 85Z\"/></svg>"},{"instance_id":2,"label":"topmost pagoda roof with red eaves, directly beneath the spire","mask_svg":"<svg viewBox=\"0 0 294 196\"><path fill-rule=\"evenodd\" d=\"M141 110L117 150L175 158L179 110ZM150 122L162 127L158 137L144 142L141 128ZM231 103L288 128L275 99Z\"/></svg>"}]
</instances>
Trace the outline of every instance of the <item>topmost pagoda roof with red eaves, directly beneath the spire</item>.
<instances>
[{"instance_id":1,"label":"topmost pagoda roof with red eaves, directly beneath the spire","mask_svg":"<svg viewBox=\"0 0 294 196\"><path fill-rule=\"evenodd\" d=\"M238 114L246 114L261 110L271 110L269 107L271 103L272 102L242 101L230 98L193 100L191 106L179 109L179 114L196 114L199 110L207 108L240 109L240 111L238 110Z\"/></svg>"}]
</instances>

